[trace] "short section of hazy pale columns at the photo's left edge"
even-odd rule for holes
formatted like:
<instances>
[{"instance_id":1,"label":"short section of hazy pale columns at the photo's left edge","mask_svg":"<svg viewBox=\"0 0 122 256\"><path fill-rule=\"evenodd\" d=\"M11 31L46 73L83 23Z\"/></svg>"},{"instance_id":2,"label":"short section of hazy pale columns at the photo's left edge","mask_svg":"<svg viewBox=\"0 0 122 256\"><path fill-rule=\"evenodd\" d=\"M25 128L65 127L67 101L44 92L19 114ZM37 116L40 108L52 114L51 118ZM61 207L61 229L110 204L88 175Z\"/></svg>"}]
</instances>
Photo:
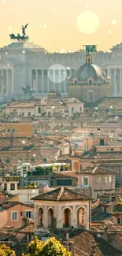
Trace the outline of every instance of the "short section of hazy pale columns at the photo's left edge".
<instances>
[{"instance_id":1,"label":"short section of hazy pale columns at the photo's left edge","mask_svg":"<svg viewBox=\"0 0 122 256\"><path fill-rule=\"evenodd\" d=\"M0 70L0 95L10 95L12 93L12 71L10 69Z\"/></svg>"}]
</instances>

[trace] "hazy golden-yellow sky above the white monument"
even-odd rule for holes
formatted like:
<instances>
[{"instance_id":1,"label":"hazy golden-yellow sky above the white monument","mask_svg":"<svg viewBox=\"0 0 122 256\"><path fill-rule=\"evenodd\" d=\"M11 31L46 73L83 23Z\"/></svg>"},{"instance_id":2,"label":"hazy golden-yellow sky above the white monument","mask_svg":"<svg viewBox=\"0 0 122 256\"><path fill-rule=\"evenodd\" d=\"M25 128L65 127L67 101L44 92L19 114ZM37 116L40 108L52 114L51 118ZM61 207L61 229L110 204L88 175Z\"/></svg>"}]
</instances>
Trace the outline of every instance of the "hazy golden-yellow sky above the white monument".
<instances>
[{"instance_id":1,"label":"hazy golden-yellow sky above the white monument","mask_svg":"<svg viewBox=\"0 0 122 256\"><path fill-rule=\"evenodd\" d=\"M89 11L98 15L99 26L96 32L84 34L77 18ZM83 44L109 50L122 42L122 0L0 0L0 20L1 47L10 42L10 33L21 33L21 25L27 23L31 42L49 51L82 49ZM81 26L84 29L88 24L91 20Z\"/></svg>"}]
</instances>

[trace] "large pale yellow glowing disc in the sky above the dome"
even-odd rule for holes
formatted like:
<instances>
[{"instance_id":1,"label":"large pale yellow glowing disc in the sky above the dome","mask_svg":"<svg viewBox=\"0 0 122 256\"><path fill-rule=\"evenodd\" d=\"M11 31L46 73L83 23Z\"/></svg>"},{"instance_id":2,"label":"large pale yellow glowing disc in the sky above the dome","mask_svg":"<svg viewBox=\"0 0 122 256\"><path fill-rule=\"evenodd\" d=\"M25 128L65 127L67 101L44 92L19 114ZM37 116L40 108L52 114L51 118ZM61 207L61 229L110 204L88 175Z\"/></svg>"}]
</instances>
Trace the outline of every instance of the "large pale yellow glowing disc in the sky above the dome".
<instances>
[{"instance_id":1,"label":"large pale yellow glowing disc in the sky above the dome","mask_svg":"<svg viewBox=\"0 0 122 256\"><path fill-rule=\"evenodd\" d=\"M97 31L99 26L98 15L91 11L85 11L79 14L77 18L77 27L85 34L92 34Z\"/></svg>"}]
</instances>

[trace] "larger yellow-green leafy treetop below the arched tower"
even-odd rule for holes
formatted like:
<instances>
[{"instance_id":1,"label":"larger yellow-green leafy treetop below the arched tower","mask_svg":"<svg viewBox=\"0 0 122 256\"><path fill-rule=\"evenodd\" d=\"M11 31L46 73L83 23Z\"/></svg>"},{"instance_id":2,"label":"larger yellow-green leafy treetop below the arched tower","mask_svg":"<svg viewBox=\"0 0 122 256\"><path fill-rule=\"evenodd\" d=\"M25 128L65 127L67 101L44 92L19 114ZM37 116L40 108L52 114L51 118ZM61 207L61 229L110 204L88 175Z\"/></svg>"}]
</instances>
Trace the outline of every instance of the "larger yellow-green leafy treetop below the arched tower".
<instances>
[{"instance_id":1,"label":"larger yellow-green leafy treetop below the arched tower","mask_svg":"<svg viewBox=\"0 0 122 256\"><path fill-rule=\"evenodd\" d=\"M34 241L28 244L27 254L22 256L71 256L60 241L54 237L47 239L46 242L40 241L35 237Z\"/></svg>"}]
</instances>

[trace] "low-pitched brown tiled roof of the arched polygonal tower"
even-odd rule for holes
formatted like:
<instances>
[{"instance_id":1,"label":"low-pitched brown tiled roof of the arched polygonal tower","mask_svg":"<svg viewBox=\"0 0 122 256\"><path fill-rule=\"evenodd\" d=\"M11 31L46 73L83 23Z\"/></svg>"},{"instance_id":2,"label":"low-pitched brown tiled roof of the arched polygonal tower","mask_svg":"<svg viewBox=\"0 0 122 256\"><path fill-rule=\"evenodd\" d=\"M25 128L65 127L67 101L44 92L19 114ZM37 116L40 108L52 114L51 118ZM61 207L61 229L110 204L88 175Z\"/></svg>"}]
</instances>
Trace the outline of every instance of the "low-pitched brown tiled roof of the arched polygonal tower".
<instances>
[{"instance_id":1,"label":"low-pitched brown tiled roof of the arched polygonal tower","mask_svg":"<svg viewBox=\"0 0 122 256\"><path fill-rule=\"evenodd\" d=\"M76 191L72 191L66 187L59 187L53 191L48 191L44 194L38 195L31 200L44 200L44 201L87 201L91 198L87 195L82 195Z\"/></svg>"}]
</instances>

